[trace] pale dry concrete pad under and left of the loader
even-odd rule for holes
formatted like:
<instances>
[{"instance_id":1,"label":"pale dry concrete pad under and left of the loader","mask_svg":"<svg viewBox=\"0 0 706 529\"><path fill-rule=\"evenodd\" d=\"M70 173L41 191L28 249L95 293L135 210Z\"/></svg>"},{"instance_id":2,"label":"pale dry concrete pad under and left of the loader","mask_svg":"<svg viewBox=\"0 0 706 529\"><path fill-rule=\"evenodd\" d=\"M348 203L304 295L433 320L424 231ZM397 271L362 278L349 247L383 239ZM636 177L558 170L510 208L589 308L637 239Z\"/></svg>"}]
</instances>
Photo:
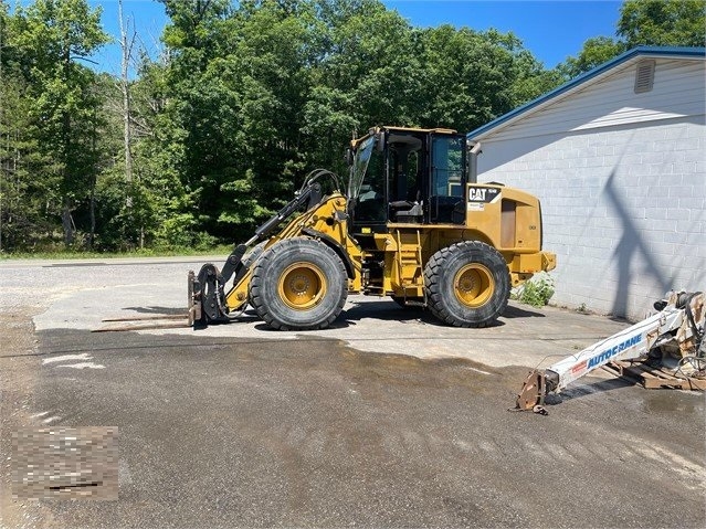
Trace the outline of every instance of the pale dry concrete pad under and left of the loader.
<instances>
[{"instance_id":1,"label":"pale dry concrete pad under and left of the loader","mask_svg":"<svg viewBox=\"0 0 706 529\"><path fill-rule=\"evenodd\" d=\"M52 268L54 277L59 274L65 281L54 281L45 290L49 293L46 309L34 318L34 324L38 330L92 330L105 326L102 320L110 317L186 315L186 277L190 267L198 268L194 265L154 260L59 268L55 264L43 264L43 267ZM11 290L12 285L8 288ZM236 321L202 330L139 332L233 340L327 338L361 351L418 358L465 358L495 368L546 368L629 325L601 316L512 301L497 326L460 329L441 325L424 310L402 309L388 298L351 295L340 317L325 330L273 331L249 309Z\"/></svg>"}]
</instances>

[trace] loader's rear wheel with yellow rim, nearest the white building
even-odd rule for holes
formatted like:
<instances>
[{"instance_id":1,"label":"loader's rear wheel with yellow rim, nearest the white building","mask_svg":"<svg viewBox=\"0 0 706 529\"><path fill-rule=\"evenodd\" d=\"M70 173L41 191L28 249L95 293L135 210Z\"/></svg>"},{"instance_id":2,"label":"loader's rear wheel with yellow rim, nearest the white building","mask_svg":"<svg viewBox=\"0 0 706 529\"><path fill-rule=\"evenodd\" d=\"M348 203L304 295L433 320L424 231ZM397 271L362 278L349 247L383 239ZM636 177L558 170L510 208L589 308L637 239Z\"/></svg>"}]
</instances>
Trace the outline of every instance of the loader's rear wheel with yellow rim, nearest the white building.
<instances>
[{"instance_id":1,"label":"loader's rear wheel with yellow rim, nearest the white building","mask_svg":"<svg viewBox=\"0 0 706 529\"><path fill-rule=\"evenodd\" d=\"M507 307L509 271L493 246L465 241L431 256L424 288L429 309L440 320L455 327L486 327Z\"/></svg>"}]
</instances>

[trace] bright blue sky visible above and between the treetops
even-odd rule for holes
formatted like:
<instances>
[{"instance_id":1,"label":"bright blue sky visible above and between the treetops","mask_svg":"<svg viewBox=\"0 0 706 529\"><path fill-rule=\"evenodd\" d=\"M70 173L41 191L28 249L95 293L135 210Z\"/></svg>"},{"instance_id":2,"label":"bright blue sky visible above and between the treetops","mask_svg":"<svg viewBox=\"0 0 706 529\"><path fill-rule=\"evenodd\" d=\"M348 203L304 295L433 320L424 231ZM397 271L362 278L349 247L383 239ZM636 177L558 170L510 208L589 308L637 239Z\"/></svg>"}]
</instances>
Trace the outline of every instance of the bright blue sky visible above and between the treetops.
<instances>
[{"instance_id":1,"label":"bright blue sky visible above and between the treetops","mask_svg":"<svg viewBox=\"0 0 706 529\"><path fill-rule=\"evenodd\" d=\"M117 0L88 0L103 7L105 30L119 35ZM576 55L587 39L614 36L621 1L617 0L384 0L412 25L443 23L477 31L512 31L545 66L554 67ZM162 4L155 0L124 0L124 14L134 21L143 44L159 53L159 35L167 23ZM99 68L119 72L119 49L108 45L94 56Z\"/></svg>"}]
</instances>

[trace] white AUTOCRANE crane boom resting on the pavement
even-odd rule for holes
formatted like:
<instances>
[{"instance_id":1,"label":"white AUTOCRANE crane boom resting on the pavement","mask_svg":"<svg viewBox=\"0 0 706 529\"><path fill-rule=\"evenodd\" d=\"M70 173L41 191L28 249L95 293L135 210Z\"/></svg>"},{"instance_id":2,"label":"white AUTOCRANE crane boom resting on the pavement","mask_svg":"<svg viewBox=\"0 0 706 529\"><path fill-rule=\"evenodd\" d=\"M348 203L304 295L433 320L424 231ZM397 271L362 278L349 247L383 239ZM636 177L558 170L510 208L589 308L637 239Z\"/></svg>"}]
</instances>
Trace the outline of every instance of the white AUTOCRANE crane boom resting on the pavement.
<instances>
[{"instance_id":1,"label":"white AUTOCRANE crane boom resting on the pavement","mask_svg":"<svg viewBox=\"0 0 706 529\"><path fill-rule=\"evenodd\" d=\"M654 316L587 347L577 355L531 371L517 395L517 410L544 412L545 396L558 393L575 380L615 360L646 358L650 352L667 345L677 345L683 355L704 356L706 309L703 293L667 293L654 304Z\"/></svg>"}]
</instances>

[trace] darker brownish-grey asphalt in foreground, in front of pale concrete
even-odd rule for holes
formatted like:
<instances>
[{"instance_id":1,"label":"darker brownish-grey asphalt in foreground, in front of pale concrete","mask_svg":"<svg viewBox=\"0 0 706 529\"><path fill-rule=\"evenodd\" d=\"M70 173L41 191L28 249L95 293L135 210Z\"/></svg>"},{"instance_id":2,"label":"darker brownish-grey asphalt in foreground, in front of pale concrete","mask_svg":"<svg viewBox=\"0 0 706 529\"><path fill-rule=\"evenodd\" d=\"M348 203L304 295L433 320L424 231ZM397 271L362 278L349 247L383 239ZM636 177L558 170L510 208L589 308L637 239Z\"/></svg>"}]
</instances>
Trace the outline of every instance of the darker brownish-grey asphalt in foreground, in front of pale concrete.
<instances>
[{"instance_id":1,"label":"darker brownish-grey asphalt in foreground, in front of pale concrete","mask_svg":"<svg viewBox=\"0 0 706 529\"><path fill-rule=\"evenodd\" d=\"M674 411L640 412L646 390L587 379L540 417L506 411L524 367L273 336L40 334L41 358L86 350L106 368L43 366L34 408L67 417L62 424L115 424L130 476L119 508L50 506L56 519L538 527L551 511L565 527L706 520L695 495L705 468L698 396L674 392ZM668 497L634 501L663 483Z\"/></svg>"}]
</instances>

